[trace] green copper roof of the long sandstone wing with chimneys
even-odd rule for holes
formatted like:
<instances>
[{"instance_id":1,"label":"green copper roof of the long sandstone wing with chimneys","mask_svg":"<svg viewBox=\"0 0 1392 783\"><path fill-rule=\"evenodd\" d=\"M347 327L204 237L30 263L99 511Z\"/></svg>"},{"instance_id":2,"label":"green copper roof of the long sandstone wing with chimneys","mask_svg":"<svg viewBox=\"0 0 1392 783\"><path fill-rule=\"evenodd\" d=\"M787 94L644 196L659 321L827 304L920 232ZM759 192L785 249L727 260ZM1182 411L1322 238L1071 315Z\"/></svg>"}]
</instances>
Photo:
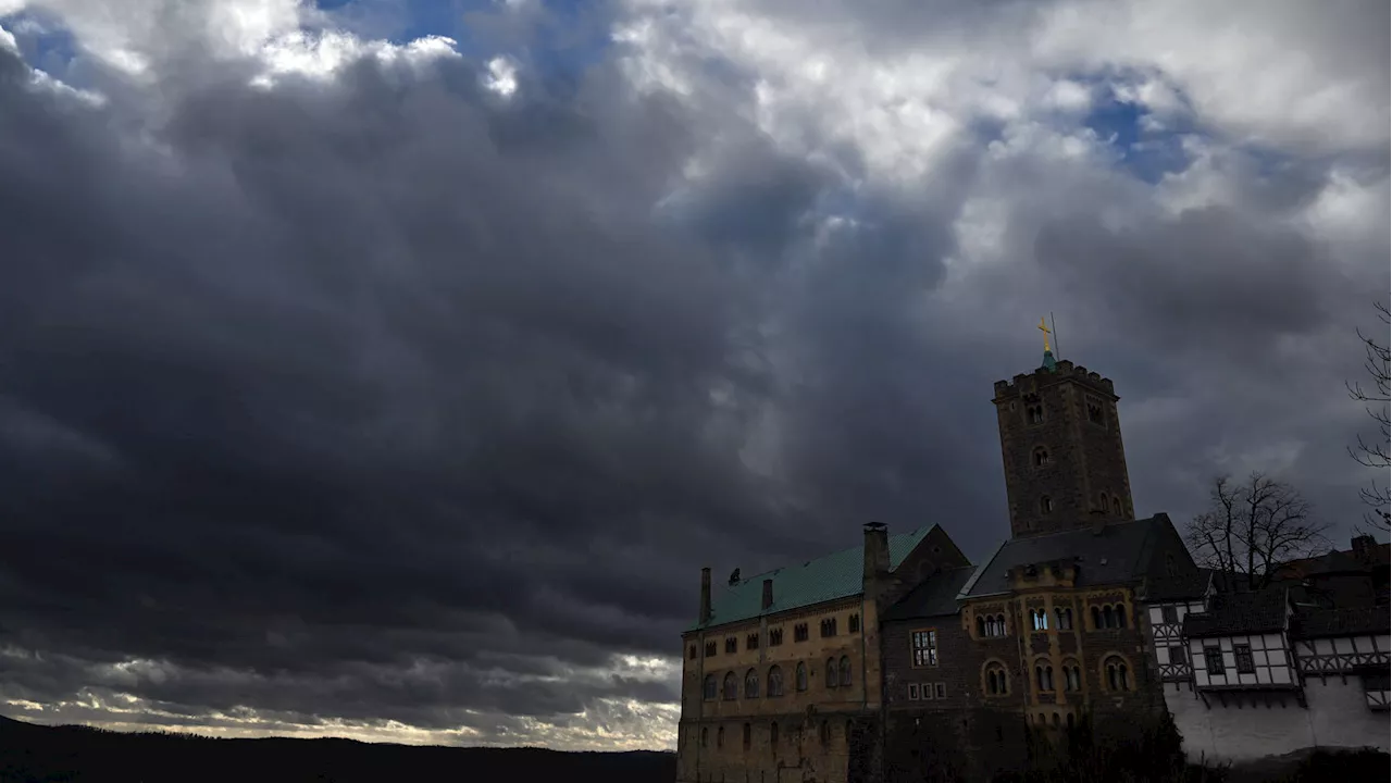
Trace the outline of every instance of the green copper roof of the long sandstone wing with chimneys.
<instances>
[{"instance_id":1,"label":"green copper roof of the long sandstone wing with chimneys","mask_svg":"<svg viewBox=\"0 0 1392 783\"><path fill-rule=\"evenodd\" d=\"M928 535L933 527L935 525L919 528L913 532L891 535L889 568L898 568L899 563L903 563L903 559ZM774 581L774 603L768 609L761 609L764 580ZM835 555L809 560L800 566L774 568L773 571L741 580L731 587L713 584L710 589L710 623L702 626L697 621L686 630L695 631L702 627L709 628L725 623L738 623L763 614L775 614L838 598L849 598L860 595L863 589L864 545L862 543Z\"/></svg>"}]
</instances>

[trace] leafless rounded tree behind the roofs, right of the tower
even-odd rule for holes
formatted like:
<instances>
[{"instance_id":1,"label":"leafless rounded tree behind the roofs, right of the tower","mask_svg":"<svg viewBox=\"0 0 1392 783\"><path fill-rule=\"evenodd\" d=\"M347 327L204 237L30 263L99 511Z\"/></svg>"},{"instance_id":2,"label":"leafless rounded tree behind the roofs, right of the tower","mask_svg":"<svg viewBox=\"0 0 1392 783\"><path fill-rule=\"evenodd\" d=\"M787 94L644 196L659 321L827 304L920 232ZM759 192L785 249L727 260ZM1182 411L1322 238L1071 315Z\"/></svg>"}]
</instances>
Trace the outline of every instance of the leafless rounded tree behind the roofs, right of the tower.
<instances>
[{"instance_id":1,"label":"leafless rounded tree behind the roofs, right of the tower","mask_svg":"<svg viewBox=\"0 0 1392 783\"><path fill-rule=\"evenodd\" d=\"M1260 589L1282 563L1328 549L1310 504L1290 483L1254 472L1243 482L1222 475L1208 490L1208 510L1189 522L1185 536L1199 564L1246 580Z\"/></svg>"}]
</instances>

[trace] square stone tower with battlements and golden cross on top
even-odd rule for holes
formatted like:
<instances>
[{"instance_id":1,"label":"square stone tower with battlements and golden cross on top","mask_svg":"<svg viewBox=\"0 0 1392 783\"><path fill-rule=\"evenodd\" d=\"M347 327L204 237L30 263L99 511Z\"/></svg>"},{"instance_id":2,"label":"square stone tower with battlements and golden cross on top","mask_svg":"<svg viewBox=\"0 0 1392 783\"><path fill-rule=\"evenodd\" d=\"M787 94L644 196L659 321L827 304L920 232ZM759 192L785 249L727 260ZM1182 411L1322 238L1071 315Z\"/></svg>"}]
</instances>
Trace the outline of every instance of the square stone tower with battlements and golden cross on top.
<instances>
[{"instance_id":1,"label":"square stone tower with battlements and golden cross on top","mask_svg":"<svg viewBox=\"0 0 1392 783\"><path fill-rule=\"evenodd\" d=\"M995 382L1013 538L1132 520L1112 382L1055 361Z\"/></svg>"}]
</instances>

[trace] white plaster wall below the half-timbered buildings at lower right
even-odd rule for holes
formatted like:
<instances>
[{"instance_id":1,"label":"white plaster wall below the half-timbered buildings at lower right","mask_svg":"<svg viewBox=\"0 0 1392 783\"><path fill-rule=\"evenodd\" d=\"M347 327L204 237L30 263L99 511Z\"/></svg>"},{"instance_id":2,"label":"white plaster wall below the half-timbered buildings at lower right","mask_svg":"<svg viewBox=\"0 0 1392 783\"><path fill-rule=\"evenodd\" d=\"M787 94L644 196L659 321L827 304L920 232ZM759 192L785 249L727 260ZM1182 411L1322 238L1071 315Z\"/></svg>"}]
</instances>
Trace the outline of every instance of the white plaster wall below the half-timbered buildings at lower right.
<instances>
[{"instance_id":1,"label":"white plaster wall below the half-timbered buildings at lower right","mask_svg":"<svg viewBox=\"0 0 1392 783\"><path fill-rule=\"evenodd\" d=\"M1315 745L1359 748L1371 745L1392 751L1392 712L1373 712L1367 708L1359 677L1318 677L1306 680L1308 709L1302 709L1293 698L1285 706L1222 706L1210 697L1208 708L1189 688L1165 687L1165 705L1175 716L1175 726L1183 737L1185 755L1190 761L1253 761L1283 755Z\"/></svg>"}]
</instances>

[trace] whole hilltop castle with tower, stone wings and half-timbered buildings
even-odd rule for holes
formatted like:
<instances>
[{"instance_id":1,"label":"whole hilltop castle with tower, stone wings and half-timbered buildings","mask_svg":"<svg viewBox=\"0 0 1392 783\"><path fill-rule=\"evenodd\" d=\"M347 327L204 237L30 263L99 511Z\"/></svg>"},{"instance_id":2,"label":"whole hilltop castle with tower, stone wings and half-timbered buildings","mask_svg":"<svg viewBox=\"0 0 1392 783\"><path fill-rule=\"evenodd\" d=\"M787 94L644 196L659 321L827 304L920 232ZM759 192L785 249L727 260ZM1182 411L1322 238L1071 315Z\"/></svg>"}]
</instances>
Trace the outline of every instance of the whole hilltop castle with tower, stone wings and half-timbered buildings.
<instances>
[{"instance_id":1,"label":"whole hilltop castle with tower, stone wings and half-timbered buildings","mask_svg":"<svg viewBox=\"0 0 1392 783\"><path fill-rule=\"evenodd\" d=\"M1382 595L1392 548L1222 589L1168 515L1134 518L1111 380L1045 337L992 403L1011 538L983 563L940 525L870 522L859 546L720 589L702 570L678 783L987 780L1084 716L1122 741L1165 711L1193 758L1392 750L1392 605L1313 582Z\"/></svg>"}]
</instances>

